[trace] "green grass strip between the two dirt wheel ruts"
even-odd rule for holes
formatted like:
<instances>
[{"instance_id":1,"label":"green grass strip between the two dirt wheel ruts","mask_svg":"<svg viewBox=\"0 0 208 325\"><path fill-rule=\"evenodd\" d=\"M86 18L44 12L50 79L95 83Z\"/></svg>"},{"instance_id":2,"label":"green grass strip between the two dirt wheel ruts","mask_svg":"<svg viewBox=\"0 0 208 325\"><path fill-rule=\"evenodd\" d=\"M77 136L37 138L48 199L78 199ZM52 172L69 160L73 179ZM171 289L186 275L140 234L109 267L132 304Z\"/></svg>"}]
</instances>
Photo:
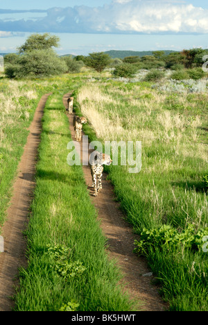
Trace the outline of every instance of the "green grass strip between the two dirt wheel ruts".
<instances>
[{"instance_id":1,"label":"green grass strip between the two dirt wheel ruts","mask_svg":"<svg viewBox=\"0 0 208 325\"><path fill-rule=\"evenodd\" d=\"M46 103L35 197L26 236L28 267L21 269L15 310L130 310L121 278L105 251L81 166L67 165L71 140L62 94Z\"/></svg>"}]
</instances>

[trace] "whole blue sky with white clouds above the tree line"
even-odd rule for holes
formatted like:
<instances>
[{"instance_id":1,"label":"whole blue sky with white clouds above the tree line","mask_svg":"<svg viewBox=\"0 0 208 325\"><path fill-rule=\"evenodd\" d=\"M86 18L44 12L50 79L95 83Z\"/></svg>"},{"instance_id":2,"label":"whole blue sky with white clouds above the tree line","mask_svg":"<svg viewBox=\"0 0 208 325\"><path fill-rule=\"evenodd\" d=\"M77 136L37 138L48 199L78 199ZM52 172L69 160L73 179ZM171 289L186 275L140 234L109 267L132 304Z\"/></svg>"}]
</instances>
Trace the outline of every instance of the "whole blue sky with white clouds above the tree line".
<instances>
[{"instance_id":1,"label":"whole blue sky with white clouds above the tree line","mask_svg":"<svg viewBox=\"0 0 208 325\"><path fill-rule=\"evenodd\" d=\"M45 32L59 36L59 54L207 49L208 1L0 0L0 53Z\"/></svg>"}]
</instances>

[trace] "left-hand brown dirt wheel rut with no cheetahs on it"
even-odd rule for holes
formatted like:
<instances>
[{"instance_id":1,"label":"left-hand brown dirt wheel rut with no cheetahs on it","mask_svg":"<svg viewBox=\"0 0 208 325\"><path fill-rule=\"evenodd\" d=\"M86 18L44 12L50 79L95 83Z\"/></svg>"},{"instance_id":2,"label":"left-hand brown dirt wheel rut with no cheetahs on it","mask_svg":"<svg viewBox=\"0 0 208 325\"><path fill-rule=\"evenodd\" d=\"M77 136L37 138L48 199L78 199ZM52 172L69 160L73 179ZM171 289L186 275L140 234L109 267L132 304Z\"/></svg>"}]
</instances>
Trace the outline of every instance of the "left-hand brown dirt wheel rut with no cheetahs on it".
<instances>
[{"instance_id":1,"label":"left-hand brown dirt wheel rut with no cheetahs on it","mask_svg":"<svg viewBox=\"0 0 208 325\"><path fill-rule=\"evenodd\" d=\"M35 164L37 148L40 144L41 119L49 95L45 94L42 97L35 111L24 154L19 163L17 179L13 186L7 220L1 231L4 239L4 253L0 253L0 311L10 311L13 307L9 297L15 293L13 288L17 285L15 276L18 274L19 267L26 266L26 242L22 232L28 222L28 210L35 187Z\"/></svg>"}]
</instances>

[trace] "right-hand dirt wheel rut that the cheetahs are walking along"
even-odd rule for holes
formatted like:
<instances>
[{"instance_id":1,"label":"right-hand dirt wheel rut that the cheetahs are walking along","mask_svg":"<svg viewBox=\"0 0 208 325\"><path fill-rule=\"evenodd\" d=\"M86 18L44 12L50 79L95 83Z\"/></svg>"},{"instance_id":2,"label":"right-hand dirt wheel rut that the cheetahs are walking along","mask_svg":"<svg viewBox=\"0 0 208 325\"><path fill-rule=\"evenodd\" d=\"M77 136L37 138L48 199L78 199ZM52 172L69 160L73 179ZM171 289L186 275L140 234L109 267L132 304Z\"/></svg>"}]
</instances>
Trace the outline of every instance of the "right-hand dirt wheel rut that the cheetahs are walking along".
<instances>
[{"instance_id":1,"label":"right-hand dirt wheel rut that the cheetahs are walking along","mask_svg":"<svg viewBox=\"0 0 208 325\"><path fill-rule=\"evenodd\" d=\"M64 106L67 108L67 98L70 94L63 97ZM73 130L73 116L69 115L69 128L73 141L75 141L75 133ZM80 142L81 152L83 145ZM90 151L89 151L90 153ZM81 157L82 158L82 157ZM98 219L101 220L101 228L108 240L110 258L117 260L117 265L123 273L123 283L132 299L139 302L139 310L144 311L162 311L168 307L166 303L159 297L158 290L155 285L151 285L153 276L144 276L148 274L150 269L144 258L138 258L132 253L134 249L134 241L138 236L132 233L132 228L125 222L124 215L119 210L119 203L115 201L114 191L111 183L106 180L103 174L102 184L103 190L98 197L92 196L92 176L90 168L83 166L85 181L87 183L89 194L92 198L94 206L98 210Z\"/></svg>"}]
</instances>

